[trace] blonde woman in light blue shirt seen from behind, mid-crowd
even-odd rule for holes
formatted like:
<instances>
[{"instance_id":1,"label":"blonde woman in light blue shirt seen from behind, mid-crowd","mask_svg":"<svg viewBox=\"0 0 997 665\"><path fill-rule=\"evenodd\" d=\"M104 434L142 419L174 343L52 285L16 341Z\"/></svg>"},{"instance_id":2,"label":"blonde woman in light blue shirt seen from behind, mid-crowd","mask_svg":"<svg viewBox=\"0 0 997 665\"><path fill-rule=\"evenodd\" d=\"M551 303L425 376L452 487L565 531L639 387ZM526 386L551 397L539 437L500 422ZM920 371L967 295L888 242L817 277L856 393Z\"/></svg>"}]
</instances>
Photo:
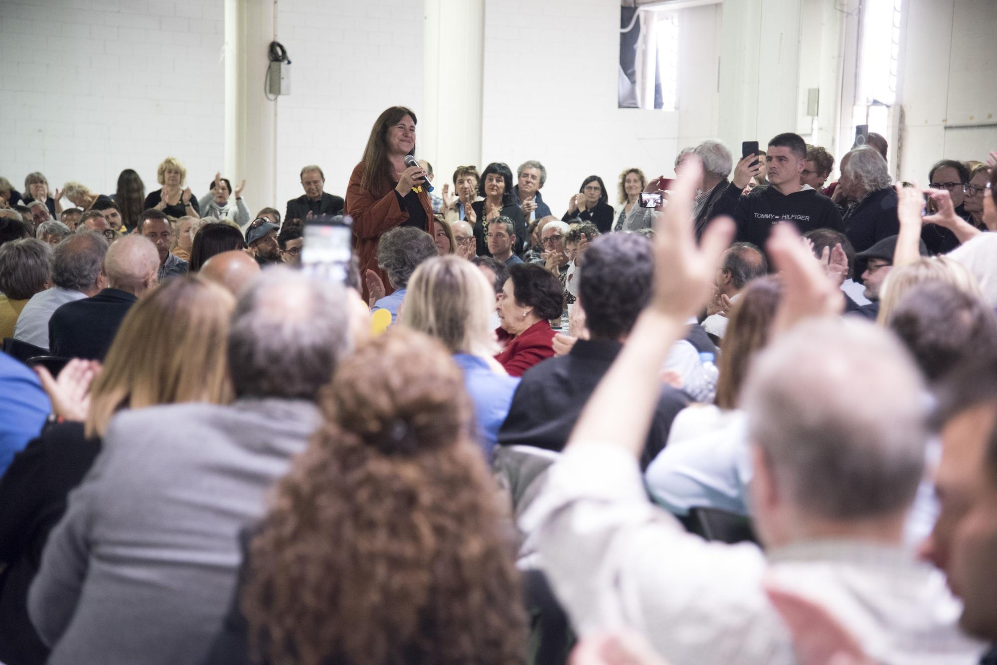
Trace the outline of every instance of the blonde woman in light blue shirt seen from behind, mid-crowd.
<instances>
[{"instance_id":1,"label":"blonde woman in light blue shirt seen from behind, mid-crowd","mask_svg":"<svg viewBox=\"0 0 997 665\"><path fill-rule=\"evenodd\" d=\"M464 370L487 457L519 384L494 357L498 342L489 318L495 302L495 291L477 266L445 256L425 261L412 274L399 315L400 325L440 339Z\"/></svg>"}]
</instances>

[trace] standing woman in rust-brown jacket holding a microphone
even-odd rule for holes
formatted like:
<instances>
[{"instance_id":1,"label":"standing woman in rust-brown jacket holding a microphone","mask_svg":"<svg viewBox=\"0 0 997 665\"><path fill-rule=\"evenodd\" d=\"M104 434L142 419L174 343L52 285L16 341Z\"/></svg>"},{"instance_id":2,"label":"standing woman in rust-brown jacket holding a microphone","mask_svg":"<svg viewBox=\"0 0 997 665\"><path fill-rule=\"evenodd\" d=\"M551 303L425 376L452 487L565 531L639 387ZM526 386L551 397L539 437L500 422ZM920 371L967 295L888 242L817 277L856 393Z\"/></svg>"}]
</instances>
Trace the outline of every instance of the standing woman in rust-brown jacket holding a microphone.
<instances>
[{"instance_id":1,"label":"standing woman in rust-brown jacket holding a microphone","mask_svg":"<svg viewBox=\"0 0 997 665\"><path fill-rule=\"evenodd\" d=\"M382 112L367 139L364 158L350 175L345 214L353 218L353 249L360 272L373 271L391 286L377 265L381 235L397 226L414 226L432 235L433 204L422 184L426 173L406 166L405 157L416 151L416 114L405 107ZM367 299L367 280L363 280Z\"/></svg>"}]
</instances>

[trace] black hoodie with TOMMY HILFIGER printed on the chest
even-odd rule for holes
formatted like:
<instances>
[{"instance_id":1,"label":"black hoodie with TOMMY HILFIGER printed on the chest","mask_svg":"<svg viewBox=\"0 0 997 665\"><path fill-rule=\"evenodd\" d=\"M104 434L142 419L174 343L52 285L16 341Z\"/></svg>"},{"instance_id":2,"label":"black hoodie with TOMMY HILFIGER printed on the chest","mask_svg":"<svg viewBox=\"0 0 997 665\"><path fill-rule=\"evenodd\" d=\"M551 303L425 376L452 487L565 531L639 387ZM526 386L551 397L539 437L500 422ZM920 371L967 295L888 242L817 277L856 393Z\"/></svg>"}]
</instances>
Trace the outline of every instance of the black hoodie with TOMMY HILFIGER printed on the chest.
<instances>
[{"instance_id":1,"label":"black hoodie with TOMMY HILFIGER printed on the chest","mask_svg":"<svg viewBox=\"0 0 997 665\"><path fill-rule=\"evenodd\" d=\"M776 187L756 187L742 196L732 182L720 196L712 214L731 215L738 225L736 240L753 243L763 250L772 225L780 221L793 222L800 233L815 229L843 230L837 206L810 187L789 196Z\"/></svg>"}]
</instances>

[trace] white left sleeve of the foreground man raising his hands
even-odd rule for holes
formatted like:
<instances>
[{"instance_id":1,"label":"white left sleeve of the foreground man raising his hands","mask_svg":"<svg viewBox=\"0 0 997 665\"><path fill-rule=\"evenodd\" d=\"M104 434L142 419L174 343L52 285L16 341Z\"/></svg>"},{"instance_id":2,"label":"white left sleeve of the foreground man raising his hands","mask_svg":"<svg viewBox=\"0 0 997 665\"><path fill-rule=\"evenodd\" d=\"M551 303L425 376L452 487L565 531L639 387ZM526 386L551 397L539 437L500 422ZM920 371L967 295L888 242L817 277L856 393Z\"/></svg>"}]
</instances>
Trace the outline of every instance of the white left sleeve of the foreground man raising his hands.
<instances>
[{"instance_id":1,"label":"white left sleeve of the foreground man raising his hands","mask_svg":"<svg viewBox=\"0 0 997 665\"><path fill-rule=\"evenodd\" d=\"M579 634L628 625L686 662L728 636L741 644L730 628L766 602L761 551L687 534L647 500L637 461L612 445L572 444L520 527Z\"/></svg>"}]
</instances>

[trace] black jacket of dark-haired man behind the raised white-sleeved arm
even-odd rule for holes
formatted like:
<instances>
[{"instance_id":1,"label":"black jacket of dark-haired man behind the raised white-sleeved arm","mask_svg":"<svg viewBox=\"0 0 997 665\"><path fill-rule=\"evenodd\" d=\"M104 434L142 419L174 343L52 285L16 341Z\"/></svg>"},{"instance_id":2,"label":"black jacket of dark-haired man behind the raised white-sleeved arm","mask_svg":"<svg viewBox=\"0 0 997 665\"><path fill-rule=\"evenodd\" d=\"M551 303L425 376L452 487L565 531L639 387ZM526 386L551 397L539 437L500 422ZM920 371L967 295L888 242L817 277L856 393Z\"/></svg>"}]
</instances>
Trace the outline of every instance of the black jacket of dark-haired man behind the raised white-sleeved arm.
<instances>
[{"instance_id":1,"label":"black jacket of dark-haired man behind the raised white-sleeved arm","mask_svg":"<svg viewBox=\"0 0 997 665\"><path fill-rule=\"evenodd\" d=\"M578 339L567 355L547 358L527 369L498 430L498 444L563 450L582 407L622 347L618 341ZM661 389L641 468L665 447L672 420L687 403L681 391L671 386Z\"/></svg>"}]
</instances>

